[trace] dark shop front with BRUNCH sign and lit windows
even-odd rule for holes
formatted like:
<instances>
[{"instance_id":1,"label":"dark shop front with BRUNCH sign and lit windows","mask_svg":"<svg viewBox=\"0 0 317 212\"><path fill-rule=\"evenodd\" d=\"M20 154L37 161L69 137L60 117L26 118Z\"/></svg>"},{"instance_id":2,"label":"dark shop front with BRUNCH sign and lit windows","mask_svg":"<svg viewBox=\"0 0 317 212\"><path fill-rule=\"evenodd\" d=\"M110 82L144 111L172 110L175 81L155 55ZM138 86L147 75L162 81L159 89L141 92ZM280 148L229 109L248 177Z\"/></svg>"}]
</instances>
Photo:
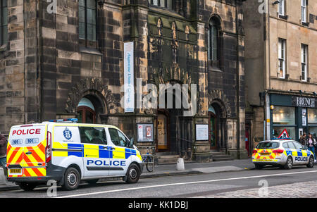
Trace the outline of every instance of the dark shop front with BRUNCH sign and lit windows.
<instances>
[{"instance_id":1,"label":"dark shop front with BRUNCH sign and lit windows","mask_svg":"<svg viewBox=\"0 0 317 212\"><path fill-rule=\"evenodd\" d=\"M271 94L271 138L278 138L283 130L291 139L300 135L317 135L317 106L313 96Z\"/></svg>"}]
</instances>

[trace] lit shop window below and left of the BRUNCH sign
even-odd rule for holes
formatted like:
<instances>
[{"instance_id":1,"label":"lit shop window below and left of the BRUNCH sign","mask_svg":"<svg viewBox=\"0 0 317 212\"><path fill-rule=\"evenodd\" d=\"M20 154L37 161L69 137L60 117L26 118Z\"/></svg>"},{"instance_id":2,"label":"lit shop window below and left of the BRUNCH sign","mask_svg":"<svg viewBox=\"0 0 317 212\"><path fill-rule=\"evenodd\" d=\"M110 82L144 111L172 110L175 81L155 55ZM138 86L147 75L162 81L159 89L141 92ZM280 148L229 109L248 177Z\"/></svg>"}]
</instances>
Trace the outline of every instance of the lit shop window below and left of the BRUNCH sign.
<instances>
[{"instance_id":1,"label":"lit shop window below and left of the BRUNCH sign","mask_svg":"<svg viewBox=\"0 0 317 212\"><path fill-rule=\"evenodd\" d=\"M295 125L295 108L286 106L274 106L273 124Z\"/></svg>"}]
</instances>

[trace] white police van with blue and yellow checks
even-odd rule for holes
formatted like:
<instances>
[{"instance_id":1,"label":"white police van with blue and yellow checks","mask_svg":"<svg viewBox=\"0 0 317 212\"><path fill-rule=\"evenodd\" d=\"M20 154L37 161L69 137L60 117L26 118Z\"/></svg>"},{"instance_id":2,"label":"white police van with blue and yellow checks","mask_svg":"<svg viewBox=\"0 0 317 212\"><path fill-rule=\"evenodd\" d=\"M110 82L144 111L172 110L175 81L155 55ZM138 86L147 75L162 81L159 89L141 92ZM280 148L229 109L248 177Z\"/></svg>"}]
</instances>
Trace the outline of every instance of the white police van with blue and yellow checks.
<instances>
[{"instance_id":1,"label":"white police van with blue and yellow checks","mask_svg":"<svg viewBox=\"0 0 317 212\"><path fill-rule=\"evenodd\" d=\"M105 177L135 183L143 166L133 139L118 127L77 123L72 118L11 127L7 168L8 181L24 190L48 180L72 190L80 180L96 183Z\"/></svg>"}]
</instances>

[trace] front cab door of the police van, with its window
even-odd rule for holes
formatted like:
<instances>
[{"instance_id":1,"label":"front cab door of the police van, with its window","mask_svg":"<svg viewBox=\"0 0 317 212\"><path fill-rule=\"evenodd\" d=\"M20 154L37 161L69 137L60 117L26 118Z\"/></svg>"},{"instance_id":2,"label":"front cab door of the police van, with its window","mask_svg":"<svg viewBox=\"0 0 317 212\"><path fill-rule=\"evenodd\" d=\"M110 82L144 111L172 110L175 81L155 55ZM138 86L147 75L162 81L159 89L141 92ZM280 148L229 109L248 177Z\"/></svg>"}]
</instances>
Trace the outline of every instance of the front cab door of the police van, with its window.
<instances>
[{"instance_id":1,"label":"front cab door of the police van, with its window","mask_svg":"<svg viewBox=\"0 0 317 212\"><path fill-rule=\"evenodd\" d=\"M126 148L128 146L128 139L123 132L116 128L108 128L108 134L112 142L112 159L110 160L109 175L123 176L128 170L131 163L131 151Z\"/></svg>"}]
</instances>

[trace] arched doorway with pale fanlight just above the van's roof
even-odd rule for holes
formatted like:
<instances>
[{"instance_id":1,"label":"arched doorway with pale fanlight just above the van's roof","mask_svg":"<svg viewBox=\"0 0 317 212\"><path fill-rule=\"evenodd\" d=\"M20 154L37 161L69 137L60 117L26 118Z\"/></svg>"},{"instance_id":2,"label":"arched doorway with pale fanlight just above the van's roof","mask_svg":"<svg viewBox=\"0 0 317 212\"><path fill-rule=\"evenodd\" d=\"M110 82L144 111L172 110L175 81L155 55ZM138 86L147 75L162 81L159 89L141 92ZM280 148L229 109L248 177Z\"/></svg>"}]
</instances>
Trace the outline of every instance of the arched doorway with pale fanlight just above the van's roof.
<instances>
[{"instance_id":1,"label":"arched doorway with pale fanlight just above the van's roof","mask_svg":"<svg viewBox=\"0 0 317 212\"><path fill-rule=\"evenodd\" d=\"M92 101L82 98L77 106L78 123L96 123L96 112Z\"/></svg>"}]
</instances>

